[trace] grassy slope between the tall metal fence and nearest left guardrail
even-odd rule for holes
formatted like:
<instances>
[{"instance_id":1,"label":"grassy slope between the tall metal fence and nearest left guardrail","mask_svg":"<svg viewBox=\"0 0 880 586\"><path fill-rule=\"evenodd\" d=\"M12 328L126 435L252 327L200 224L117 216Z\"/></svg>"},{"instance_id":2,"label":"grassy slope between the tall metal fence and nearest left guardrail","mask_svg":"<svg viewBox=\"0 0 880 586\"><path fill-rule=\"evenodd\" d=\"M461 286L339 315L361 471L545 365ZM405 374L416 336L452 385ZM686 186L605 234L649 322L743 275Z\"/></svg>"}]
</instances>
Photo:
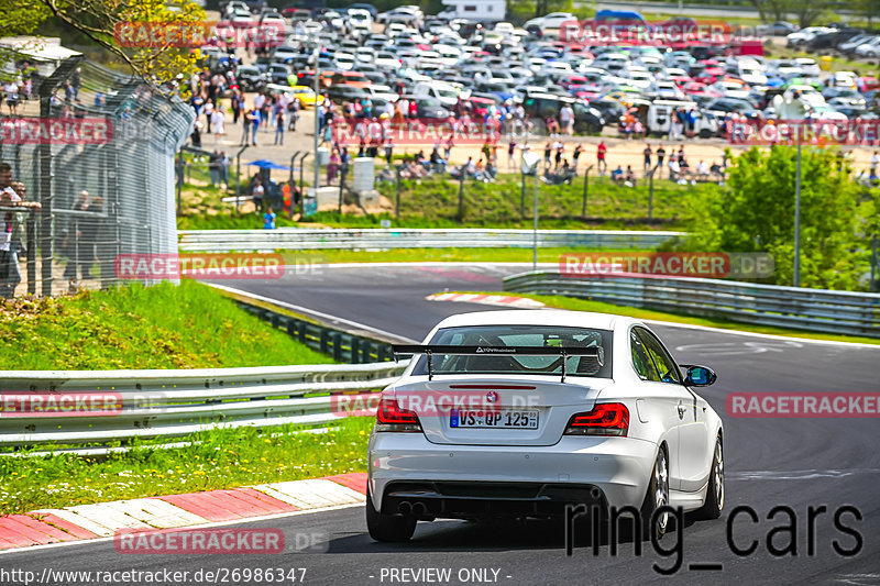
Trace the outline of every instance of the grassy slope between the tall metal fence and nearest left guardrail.
<instances>
[{"instance_id":1,"label":"grassy slope between the tall metal fence and nearest left guardrail","mask_svg":"<svg viewBox=\"0 0 880 586\"><path fill-rule=\"evenodd\" d=\"M193 280L23 298L0 306L0 364L10 371L330 362Z\"/></svg>"}]
</instances>

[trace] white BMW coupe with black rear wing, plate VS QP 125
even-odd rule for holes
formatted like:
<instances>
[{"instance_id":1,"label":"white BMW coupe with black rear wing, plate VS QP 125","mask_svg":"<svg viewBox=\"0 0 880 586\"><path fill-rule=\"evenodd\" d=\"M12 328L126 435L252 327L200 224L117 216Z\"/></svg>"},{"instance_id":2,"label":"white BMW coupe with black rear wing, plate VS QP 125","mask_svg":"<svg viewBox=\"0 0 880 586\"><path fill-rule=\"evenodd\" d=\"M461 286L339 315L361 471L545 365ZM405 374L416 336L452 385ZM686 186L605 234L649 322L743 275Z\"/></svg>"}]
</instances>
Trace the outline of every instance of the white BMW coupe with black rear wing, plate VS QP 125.
<instances>
[{"instance_id":1,"label":"white BMW coupe with black rear wing, plate VS QP 125","mask_svg":"<svg viewBox=\"0 0 880 586\"><path fill-rule=\"evenodd\" d=\"M724 430L638 320L561 310L448 318L383 390L370 439L366 523L407 541L418 521L636 511L662 537L670 509L717 518ZM662 508L661 508L662 507ZM597 508L597 509L595 509Z\"/></svg>"}]
</instances>

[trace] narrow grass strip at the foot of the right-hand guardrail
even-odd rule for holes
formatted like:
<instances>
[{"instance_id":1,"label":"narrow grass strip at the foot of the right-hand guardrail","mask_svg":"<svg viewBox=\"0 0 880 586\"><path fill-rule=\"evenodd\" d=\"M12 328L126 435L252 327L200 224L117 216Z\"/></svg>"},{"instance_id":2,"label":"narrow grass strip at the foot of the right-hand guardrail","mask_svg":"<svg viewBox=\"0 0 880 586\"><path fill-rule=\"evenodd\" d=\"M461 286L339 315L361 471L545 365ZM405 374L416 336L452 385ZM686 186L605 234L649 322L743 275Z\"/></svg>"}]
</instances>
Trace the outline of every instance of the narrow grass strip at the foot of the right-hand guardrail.
<instances>
[{"instance_id":1,"label":"narrow grass strip at the foot of the right-hand guardrail","mask_svg":"<svg viewBox=\"0 0 880 586\"><path fill-rule=\"evenodd\" d=\"M469 292L480 295L497 295L497 291L455 291ZM772 335L785 335L792 338L806 338L810 340L828 340L835 342L854 342L860 344L875 344L880 345L880 340L876 338L861 338L856 335L838 335L825 334L821 332L810 332L804 330L791 330L787 328L777 328L773 325L756 325L751 323L740 323L736 321L727 321L712 318L695 318L691 316L682 316L679 313L668 313L664 311L654 311L651 309L642 309L627 306L616 306L603 301L591 301L586 299L576 299L573 297L564 297L561 295L532 295L514 292L510 295L517 297L526 297L541 301L548 307L569 309L572 311L594 311L597 313L616 313L618 316L627 316L641 320L657 320L657 321L671 321L674 323L686 323L691 325L705 325L708 328L721 328L725 330L739 330L741 332L755 332Z\"/></svg>"}]
</instances>

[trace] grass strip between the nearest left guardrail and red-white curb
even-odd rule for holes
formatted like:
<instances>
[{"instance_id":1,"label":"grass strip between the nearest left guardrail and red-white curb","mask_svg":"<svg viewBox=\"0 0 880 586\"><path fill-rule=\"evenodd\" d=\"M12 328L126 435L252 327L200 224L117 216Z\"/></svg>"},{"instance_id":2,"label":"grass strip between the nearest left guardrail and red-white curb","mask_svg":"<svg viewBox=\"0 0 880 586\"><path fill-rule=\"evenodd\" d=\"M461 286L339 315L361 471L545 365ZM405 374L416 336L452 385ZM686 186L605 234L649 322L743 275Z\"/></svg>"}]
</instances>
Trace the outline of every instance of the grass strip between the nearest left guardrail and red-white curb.
<instances>
[{"instance_id":1,"label":"grass strip between the nearest left guardrail and red-white curb","mask_svg":"<svg viewBox=\"0 0 880 586\"><path fill-rule=\"evenodd\" d=\"M292 427L199 433L187 447L143 443L100 457L0 457L0 516L366 471L373 418L349 418L326 433Z\"/></svg>"}]
</instances>

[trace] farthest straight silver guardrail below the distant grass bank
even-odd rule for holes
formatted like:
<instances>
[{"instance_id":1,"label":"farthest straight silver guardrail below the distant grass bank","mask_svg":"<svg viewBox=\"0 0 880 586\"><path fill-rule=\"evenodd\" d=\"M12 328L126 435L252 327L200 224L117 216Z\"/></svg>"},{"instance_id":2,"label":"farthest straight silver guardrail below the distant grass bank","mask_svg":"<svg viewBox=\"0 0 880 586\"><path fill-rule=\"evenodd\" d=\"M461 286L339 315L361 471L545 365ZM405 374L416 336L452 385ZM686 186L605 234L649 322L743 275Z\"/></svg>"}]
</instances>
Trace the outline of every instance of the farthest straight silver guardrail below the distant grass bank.
<instances>
[{"instance_id":1,"label":"farthest straight silver guardrail below the distant grass bank","mask_svg":"<svg viewBox=\"0 0 880 586\"><path fill-rule=\"evenodd\" d=\"M382 250L449 247L522 247L532 245L531 230L485 229L305 229L183 230L180 252L276 250ZM683 232L539 230L541 247L656 248Z\"/></svg>"}]
</instances>

